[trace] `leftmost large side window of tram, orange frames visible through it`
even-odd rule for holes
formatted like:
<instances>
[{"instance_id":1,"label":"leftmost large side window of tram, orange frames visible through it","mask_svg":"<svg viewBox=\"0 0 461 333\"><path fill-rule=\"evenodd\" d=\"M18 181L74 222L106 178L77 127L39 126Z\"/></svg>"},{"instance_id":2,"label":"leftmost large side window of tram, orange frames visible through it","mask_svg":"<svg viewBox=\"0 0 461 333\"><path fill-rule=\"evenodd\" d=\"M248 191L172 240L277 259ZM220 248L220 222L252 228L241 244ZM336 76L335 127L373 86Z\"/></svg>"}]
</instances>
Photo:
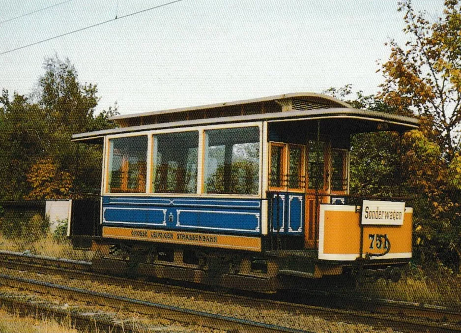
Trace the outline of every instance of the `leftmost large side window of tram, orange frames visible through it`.
<instances>
[{"instance_id":1,"label":"leftmost large side window of tram, orange frames visible through it","mask_svg":"<svg viewBox=\"0 0 461 333\"><path fill-rule=\"evenodd\" d=\"M109 140L109 193L145 192L147 136Z\"/></svg>"}]
</instances>

